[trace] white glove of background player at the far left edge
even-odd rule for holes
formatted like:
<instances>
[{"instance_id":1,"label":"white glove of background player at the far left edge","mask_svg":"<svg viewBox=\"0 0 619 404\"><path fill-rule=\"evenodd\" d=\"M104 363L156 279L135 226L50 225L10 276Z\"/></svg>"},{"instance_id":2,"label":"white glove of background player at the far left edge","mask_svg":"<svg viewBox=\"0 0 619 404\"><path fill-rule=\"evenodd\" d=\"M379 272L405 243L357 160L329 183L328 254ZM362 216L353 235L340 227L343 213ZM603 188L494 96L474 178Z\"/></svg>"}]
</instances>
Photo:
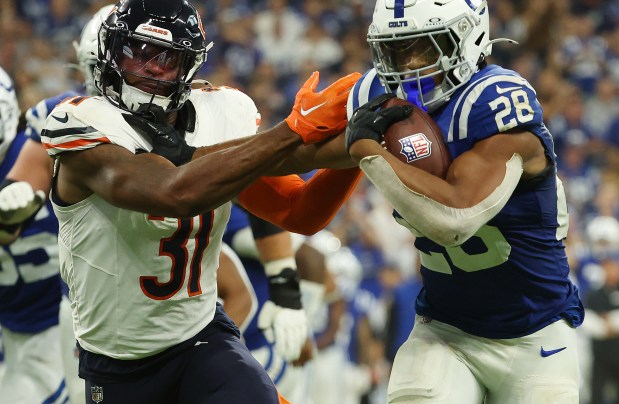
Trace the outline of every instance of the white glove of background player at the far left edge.
<instances>
[{"instance_id":1,"label":"white glove of background player at the far left edge","mask_svg":"<svg viewBox=\"0 0 619 404\"><path fill-rule=\"evenodd\" d=\"M0 190L0 223L21 223L45 202L45 192L32 189L26 181L14 182Z\"/></svg>"}]
</instances>

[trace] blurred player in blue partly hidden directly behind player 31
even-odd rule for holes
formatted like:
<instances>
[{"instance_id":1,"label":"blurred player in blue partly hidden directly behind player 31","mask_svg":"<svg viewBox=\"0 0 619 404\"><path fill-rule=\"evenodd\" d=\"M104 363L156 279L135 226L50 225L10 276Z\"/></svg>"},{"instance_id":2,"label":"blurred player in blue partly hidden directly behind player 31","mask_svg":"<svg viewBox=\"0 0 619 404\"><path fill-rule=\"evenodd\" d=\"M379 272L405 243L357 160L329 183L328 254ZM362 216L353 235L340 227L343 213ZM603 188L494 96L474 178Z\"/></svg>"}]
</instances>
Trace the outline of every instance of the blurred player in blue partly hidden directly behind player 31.
<instances>
[{"instance_id":1,"label":"blurred player in blue partly hidden directly behind player 31","mask_svg":"<svg viewBox=\"0 0 619 404\"><path fill-rule=\"evenodd\" d=\"M97 36L101 23L112 10L112 5L102 7L91 20L84 26L80 35L79 42L74 43L78 69L84 77L84 87L76 91L67 91L55 97L45 99L26 112L27 137L19 156L16 156L15 163L7 174L10 181L20 182L19 186L5 187L0 190L0 200L12 200L26 205L35 196L34 189L42 196L49 194L53 173L53 160L49 158L45 148L41 144L40 133L43 129L45 119L49 112L62 100L78 95L96 95L97 90L94 86L93 69L97 61ZM21 134L20 136L23 136ZM44 198L43 198L44 200ZM33 205L36 206L36 205ZM45 209L50 214L51 220L56 223L53 226L57 232L57 220L53 214L51 204L46 203ZM12 212L13 214L19 211ZM7 215L9 212L6 213ZM23 217L24 215L22 215ZM19 218L13 218L16 221ZM60 279L57 238L53 241L47 240L47 244L53 248L48 251L50 263L56 265L56 277ZM11 247L14 248L14 247ZM68 301L68 290L64 282L60 281L62 288L62 300L60 301L59 325L60 325L60 344L62 353L62 368L64 369L64 379L68 389L68 395L74 404L84 401L84 381L78 377L78 359L75 346L75 335L73 334L73 321L71 318L71 308ZM50 293L55 293L54 289ZM34 294L33 294L34 295ZM56 313L58 314L58 313ZM57 366L58 364L54 365Z\"/></svg>"}]
</instances>

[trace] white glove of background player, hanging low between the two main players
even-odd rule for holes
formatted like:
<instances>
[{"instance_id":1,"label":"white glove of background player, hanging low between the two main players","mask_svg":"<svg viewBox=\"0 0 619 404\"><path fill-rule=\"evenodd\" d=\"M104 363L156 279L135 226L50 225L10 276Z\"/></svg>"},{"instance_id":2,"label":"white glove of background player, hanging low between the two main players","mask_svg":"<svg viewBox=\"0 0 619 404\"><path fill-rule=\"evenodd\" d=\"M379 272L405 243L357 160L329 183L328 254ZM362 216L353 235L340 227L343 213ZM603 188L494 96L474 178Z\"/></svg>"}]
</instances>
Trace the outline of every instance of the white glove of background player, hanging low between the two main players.
<instances>
[{"instance_id":1,"label":"white glove of background player, hanging low between the two main players","mask_svg":"<svg viewBox=\"0 0 619 404\"><path fill-rule=\"evenodd\" d=\"M307 316L303 309L287 309L267 300L258 316L258 328L285 360L299 358L307 339Z\"/></svg>"}]
</instances>

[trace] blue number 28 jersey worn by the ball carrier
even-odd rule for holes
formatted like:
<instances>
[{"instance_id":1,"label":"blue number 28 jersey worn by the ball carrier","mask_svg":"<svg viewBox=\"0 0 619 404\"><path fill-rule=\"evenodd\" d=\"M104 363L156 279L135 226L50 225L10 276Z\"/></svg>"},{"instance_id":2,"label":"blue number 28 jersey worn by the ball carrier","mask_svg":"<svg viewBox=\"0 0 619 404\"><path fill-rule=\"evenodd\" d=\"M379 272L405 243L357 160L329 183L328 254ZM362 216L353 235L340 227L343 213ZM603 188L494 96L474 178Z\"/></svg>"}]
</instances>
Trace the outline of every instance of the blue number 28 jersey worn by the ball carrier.
<instances>
[{"instance_id":1,"label":"blue number 28 jersey worn by the ball carrier","mask_svg":"<svg viewBox=\"0 0 619 404\"><path fill-rule=\"evenodd\" d=\"M370 70L351 92L349 114L384 92ZM432 118L454 159L479 140L518 128L539 138L553 169L521 181L505 207L464 244L443 247L417 238L424 283L417 313L486 338L528 335L560 318L580 325L584 310L568 278L563 243L567 204L556 176L552 137L533 88L517 73L491 65Z\"/></svg>"}]
</instances>

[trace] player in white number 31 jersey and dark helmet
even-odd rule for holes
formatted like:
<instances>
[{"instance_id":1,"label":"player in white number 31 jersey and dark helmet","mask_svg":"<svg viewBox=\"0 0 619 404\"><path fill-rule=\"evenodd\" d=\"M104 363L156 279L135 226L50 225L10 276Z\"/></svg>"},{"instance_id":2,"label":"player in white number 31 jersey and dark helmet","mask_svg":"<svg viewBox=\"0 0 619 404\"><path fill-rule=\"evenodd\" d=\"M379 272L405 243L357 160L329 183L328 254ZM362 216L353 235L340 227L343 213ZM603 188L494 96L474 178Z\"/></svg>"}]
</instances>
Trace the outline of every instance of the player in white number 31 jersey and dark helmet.
<instances>
[{"instance_id":1,"label":"player in white number 31 jersey and dark helmet","mask_svg":"<svg viewBox=\"0 0 619 404\"><path fill-rule=\"evenodd\" d=\"M307 183L260 178L330 164L321 142L345 128L358 75L315 93L314 74L286 123L250 136L258 118L251 99L225 88L191 90L209 47L188 2L120 2L99 33L102 96L67 100L46 121L61 274L88 402L277 402L216 304L228 201L238 194L265 219L312 233L359 179L355 168L323 170ZM166 158L143 153L152 150ZM336 157L333 167L352 165ZM276 349L298 357L306 319L291 298L294 274L274 276L291 290L271 296L269 327Z\"/></svg>"}]
</instances>

